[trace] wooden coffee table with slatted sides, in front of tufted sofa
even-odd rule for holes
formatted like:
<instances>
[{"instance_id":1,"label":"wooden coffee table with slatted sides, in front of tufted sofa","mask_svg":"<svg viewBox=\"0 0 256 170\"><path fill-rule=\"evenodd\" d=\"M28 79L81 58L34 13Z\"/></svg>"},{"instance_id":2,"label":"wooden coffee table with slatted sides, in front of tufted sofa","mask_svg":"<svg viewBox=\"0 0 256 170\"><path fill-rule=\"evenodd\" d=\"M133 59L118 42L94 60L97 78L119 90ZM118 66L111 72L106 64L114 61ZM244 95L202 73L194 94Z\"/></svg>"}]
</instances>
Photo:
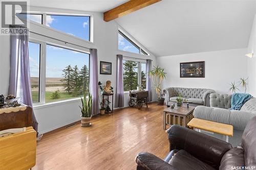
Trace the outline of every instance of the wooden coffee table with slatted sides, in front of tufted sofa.
<instances>
[{"instance_id":1,"label":"wooden coffee table with slatted sides, in front of tufted sofa","mask_svg":"<svg viewBox=\"0 0 256 170\"><path fill-rule=\"evenodd\" d=\"M193 117L195 107L189 106L187 107L176 107L175 109L170 109L170 107L163 110L163 129L166 129L166 125L180 125L183 127L187 127L187 123L190 121L190 119ZM167 122L166 122L166 115L168 116ZM173 119L173 120L171 120ZM178 119L178 121L176 121ZM182 119L182 121L181 121ZM171 124L171 122L173 122Z\"/></svg>"}]
</instances>

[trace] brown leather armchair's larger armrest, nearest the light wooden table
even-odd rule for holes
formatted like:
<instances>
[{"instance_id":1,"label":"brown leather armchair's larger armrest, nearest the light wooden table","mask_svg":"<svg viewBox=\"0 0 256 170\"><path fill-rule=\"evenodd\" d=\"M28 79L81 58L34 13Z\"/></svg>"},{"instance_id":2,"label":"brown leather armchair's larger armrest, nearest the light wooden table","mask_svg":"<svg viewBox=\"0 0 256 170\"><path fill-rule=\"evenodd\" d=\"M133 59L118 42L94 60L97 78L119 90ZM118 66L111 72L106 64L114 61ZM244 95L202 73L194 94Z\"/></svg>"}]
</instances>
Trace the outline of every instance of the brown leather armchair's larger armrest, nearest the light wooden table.
<instances>
[{"instance_id":1,"label":"brown leather armchair's larger armrest, nearest the light wooden table","mask_svg":"<svg viewBox=\"0 0 256 170\"><path fill-rule=\"evenodd\" d=\"M167 132L170 150L183 149L216 168L223 155L232 148L230 143L178 125L173 125Z\"/></svg>"}]
</instances>

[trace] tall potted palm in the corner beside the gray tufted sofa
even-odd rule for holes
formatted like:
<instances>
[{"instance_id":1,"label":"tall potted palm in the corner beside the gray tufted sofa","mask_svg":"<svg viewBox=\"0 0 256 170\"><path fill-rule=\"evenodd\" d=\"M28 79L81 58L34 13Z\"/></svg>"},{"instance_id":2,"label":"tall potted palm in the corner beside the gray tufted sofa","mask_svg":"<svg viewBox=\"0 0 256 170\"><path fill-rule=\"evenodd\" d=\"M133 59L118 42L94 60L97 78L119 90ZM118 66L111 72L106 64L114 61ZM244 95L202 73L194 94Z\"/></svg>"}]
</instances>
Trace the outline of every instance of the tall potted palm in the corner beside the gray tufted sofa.
<instances>
[{"instance_id":1,"label":"tall potted palm in the corner beside the gray tufted sofa","mask_svg":"<svg viewBox=\"0 0 256 170\"><path fill-rule=\"evenodd\" d=\"M166 77L166 72L164 72L164 68L161 68L159 66L155 67L152 69L150 72L150 77L152 78L153 84L156 89L157 93L157 104L158 105L163 105L164 103L164 98L161 93L161 84L163 82L163 79Z\"/></svg>"}]
</instances>

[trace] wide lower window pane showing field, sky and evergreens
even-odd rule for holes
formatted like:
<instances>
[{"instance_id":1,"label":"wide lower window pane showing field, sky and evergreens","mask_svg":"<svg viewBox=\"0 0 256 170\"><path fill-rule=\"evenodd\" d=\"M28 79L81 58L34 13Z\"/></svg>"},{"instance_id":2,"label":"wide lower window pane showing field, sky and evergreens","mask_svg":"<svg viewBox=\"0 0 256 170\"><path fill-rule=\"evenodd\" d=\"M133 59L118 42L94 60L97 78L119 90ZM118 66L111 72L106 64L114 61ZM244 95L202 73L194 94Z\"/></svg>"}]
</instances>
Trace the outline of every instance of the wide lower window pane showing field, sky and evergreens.
<instances>
[{"instance_id":1,"label":"wide lower window pane showing field, sky and evergreens","mask_svg":"<svg viewBox=\"0 0 256 170\"><path fill-rule=\"evenodd\" d=\"M89 54L46 47L46 103L77 98L89 89Z\"/></svg>"}]
</instances>

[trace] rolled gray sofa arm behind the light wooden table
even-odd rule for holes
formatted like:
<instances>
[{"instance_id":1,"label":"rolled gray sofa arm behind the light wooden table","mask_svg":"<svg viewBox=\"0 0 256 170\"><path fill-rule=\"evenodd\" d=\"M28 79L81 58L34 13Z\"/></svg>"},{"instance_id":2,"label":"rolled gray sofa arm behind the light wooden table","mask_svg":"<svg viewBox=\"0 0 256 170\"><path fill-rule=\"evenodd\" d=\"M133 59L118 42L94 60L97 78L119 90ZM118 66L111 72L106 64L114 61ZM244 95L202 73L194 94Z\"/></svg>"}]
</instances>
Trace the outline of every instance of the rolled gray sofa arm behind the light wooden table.
<instances>
[{"instance_id":1,"label":"rolled gray sofa arm behind the light wooden table","mask_svg":"<svg viewBox=\"0 0 256 170\"><path fill-rule=\"evenodd\" d=\"M256 115L254 112L205 106L197 106L193 114L196 118L232 125L237 130L244 130L249 120Z\"/></svg>"}]
</instances>

